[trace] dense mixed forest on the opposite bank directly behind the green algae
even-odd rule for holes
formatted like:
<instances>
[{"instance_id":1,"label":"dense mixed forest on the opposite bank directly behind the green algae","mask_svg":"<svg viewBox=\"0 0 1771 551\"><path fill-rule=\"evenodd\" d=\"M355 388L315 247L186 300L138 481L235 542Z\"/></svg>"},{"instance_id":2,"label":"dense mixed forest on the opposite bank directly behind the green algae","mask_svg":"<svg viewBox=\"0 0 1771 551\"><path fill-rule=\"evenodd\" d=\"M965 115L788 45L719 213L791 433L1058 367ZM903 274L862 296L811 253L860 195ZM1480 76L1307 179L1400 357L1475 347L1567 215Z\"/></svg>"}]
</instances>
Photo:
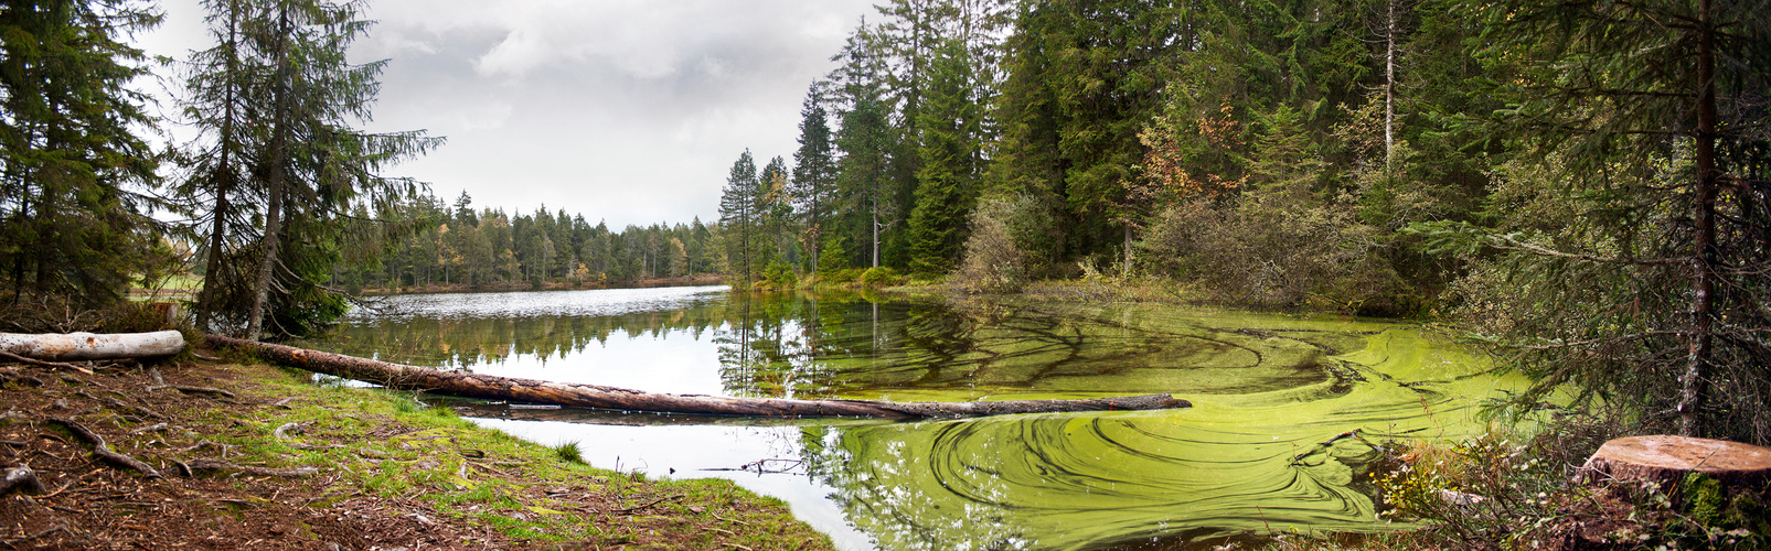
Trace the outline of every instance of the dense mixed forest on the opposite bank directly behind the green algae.
<instances>
[{"instance_id":1,"label":"dense mixed forest on the opposite bank directly behind the green algae","mask_svg":"<svg viewBox=\"0 0 1771 551\"><path fill-rule=\"evenodd\" d=\"M1458 2L878 5L811 83L792 161L744 152L731 272L1086 270L1211 300L1417 314L1456 279L1411 223L1481 221L1512 67Z\"/></svg>"}]
</instances>

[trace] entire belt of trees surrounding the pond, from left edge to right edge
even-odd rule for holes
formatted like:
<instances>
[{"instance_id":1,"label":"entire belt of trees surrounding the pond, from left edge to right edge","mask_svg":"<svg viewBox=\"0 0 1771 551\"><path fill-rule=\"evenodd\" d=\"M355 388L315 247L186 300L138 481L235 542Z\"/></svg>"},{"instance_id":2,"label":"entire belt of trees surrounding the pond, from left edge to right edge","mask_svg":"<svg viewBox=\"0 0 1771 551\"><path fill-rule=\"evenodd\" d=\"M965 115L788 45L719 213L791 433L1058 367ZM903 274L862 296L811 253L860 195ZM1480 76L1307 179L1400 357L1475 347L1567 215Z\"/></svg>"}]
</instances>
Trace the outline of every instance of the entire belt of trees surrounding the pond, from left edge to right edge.
<instances>
[{"instance_id":1,"label":"entire belt of trees surrounding the pond, from left edge to right edge","mask_svg":"<svg viewBox=\"0 0 1771 551\"><path fill-rule=\"evenodd\" d=\"M384 175L441 138L360 129L361 4L204 7L168 120L129 88L151 7L0 7L14 304L191 270L198 327L260 337L351 286L1119 274L1454 318L1541 383L1521 404L1578 383L1771 442L1767 0L891 0L808 83L797 150L735 152L719 221L622 231Z\"/></svg>"}]
</instances>

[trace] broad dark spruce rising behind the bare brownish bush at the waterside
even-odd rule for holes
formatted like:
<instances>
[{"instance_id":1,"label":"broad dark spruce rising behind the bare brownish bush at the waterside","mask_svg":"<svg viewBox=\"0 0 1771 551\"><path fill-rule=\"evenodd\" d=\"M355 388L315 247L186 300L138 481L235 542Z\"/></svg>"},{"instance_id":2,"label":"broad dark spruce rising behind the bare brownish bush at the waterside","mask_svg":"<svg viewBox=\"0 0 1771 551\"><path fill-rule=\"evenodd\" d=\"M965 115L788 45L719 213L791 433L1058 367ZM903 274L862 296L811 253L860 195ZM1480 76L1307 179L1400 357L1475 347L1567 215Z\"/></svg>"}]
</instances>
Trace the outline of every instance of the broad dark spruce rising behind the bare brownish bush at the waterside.
<instances>
[{"instance_id":1,"label":"broad dark spruce rising behind the bare brownish bush at the waterside","mask_svg":"<svg viewBox=\"0 0 1771 551\"><path fill-rule=\"evenodd\" d=\"M1063 205L1070 254L1119 237L1123 184L1144 155L1137 132L1160 106L1176 53L1192 46L1190 23L1171 2L1061 0L1022 12L997 101L1006 134L992 180L1045 184L1027 191Z\"/></svg>"}]
</instances>

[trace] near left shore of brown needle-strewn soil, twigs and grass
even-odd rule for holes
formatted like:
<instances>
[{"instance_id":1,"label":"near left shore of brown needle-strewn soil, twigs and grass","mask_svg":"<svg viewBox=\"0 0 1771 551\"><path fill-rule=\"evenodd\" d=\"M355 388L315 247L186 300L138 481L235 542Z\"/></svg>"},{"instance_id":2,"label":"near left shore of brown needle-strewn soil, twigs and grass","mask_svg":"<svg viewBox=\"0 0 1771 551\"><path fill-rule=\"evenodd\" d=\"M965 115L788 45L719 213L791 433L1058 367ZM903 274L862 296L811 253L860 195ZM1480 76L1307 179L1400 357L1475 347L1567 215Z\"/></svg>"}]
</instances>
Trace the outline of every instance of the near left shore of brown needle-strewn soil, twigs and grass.
<instances>
[{"instance_id":1,"label":"near left shore of brown needle-strewn soil, twigs and grass","mask_svg":"<svg viewBox=\"0 0 1771 551\"><path fill-rule=\"evenodd\" d=\"M0 491L4 549L831 547L726 480L597 470L576 445L251 360L0 364L0 472L43 486Z\"/></svg>"}]
</instances>

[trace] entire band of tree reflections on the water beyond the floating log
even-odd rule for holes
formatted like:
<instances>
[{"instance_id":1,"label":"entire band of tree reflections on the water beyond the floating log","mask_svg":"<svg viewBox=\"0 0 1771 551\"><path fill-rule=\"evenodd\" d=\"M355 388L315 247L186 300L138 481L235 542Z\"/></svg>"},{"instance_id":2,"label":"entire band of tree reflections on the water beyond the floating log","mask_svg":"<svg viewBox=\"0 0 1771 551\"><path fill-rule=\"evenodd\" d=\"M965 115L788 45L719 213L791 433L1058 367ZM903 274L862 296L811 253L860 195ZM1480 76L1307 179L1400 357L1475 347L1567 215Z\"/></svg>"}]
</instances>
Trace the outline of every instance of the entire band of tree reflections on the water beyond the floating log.
<instances>
[{"instance_id":1,"label":"entire band of tree reflections on the water beyond the floating log","mask_svg":"<svg viewBox=\"0 0 1771 551\"><path fill-rule=\"evenodd\" d=\"M1133 316L1135 318L1135 316ZM1130 318L1128 318L1130 320ZM512 355L540 362L584 353L607 339L703 339L719 348L724 392L769 397L868 396L893 390L958 392L1190 392L1319 381L1314 360L1296 350L1277 364L1291 371L1247 381L1148 369L1247 369L1273 360L1272 332L1162 327L1102 311L1038 306L953 307L847 295L746 295L677 309L607 316L400 318L351 327L335 351L432 367L473 369ZM1307 348L1303 341L1293 341ZM1295 367L1295 369L1293 369ZM1156 383L1153 383L1156 381ZM919 397L928 399L928 397ZM939 399L939 397L937 397Z\"/></svg>"}]
</instances>

